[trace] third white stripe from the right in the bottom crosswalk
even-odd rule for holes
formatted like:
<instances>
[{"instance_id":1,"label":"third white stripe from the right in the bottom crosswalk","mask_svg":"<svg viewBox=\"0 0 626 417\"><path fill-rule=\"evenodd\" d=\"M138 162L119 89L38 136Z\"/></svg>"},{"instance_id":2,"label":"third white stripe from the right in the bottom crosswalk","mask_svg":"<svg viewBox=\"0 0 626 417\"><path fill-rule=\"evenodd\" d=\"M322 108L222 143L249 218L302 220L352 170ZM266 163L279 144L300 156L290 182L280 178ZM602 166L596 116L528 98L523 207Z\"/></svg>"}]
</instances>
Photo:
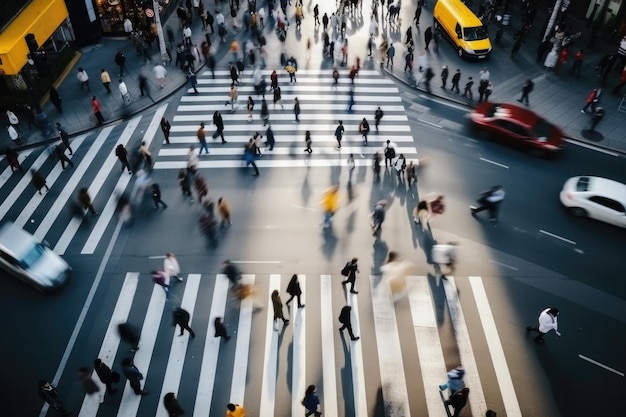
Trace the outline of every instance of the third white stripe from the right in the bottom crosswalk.
<instances>
[{"instance_id":1,"label":"third white stripe from the right in the bottom crosswalk","mask_svg":"<svg viewBox=\"0 0 626 417\"><path fill-rule=\"evenodd\" d=\"M446 381L446 362L441 350L428 278L409 276L406 280L428 416L446 417L439 395L439 384Z\"/></svg>"}]
</instances>

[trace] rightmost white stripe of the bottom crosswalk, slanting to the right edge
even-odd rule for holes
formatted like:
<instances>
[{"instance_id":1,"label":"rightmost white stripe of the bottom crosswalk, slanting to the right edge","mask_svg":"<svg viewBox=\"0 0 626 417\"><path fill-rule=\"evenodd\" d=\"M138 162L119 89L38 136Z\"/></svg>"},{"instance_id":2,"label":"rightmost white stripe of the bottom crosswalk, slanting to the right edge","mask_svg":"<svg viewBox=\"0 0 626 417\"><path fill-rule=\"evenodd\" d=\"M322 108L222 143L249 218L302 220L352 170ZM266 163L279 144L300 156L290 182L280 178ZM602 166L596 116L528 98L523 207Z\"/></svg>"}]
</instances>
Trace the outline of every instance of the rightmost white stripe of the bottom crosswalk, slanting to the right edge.
<instances>
[{"instance_id":1,"label":"rightmost white stripe of the bottom crosswalk, slanting to the right edge","mask_svg":"<svg viewBox=\"0 0 626 417\"><path fill-rule=\"evenodd\" d=\"M487 293L485 292L482 279L475 276L469 277L468 279L472 287L472 292L474 293L478 316L480 317L480 322L482 323L483 331L485 332L487 347L489 348L493 369L496 373L496 378L498 379L498 386L500 387L500 394L502 395L502 402L504 403L506 415L507 417L522 417L522 410L520 409L517 395L515 394L513 379L511 378L511 373L509 372L509 367L506 363L504 349L502 348L502 342L500 341L500 336L498 335L498 328L496 327L496 322L493 319L493 313L489 305L489 299L487 298Z\"/></svg>"}]
</instances>

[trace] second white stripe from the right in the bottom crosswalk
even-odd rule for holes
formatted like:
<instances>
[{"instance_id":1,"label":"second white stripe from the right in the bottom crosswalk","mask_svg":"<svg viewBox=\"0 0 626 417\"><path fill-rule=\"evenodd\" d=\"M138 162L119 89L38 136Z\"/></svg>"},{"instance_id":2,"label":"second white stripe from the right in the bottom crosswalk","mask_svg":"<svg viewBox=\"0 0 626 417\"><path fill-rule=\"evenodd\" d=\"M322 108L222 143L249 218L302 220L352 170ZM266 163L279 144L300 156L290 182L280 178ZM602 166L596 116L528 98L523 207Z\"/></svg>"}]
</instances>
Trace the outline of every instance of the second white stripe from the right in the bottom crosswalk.
<instances>
[{"instance_id":1,"label":"second white stripe from the right in the bottom crosswalk","mask_svg":"<svg viewBox=\"0 0 626 417\"><path fill-rule=\"evenodd\" d=\"M450 320L454 328L454 336L459 349L461 364L463 365L463 369L465 369L465 385L470 387L469 401L472 415L484 416L487 411L487 404L485 402L483 386L480 383L480 376L478 375L478 367L476 365L476 358L474 357L474 350L472 349L472 342L469 337L469 331L467 330L467 324L465 323L465 316L461 309L461 302L459 301L454 277L448 276L447 278L447 280L442 280L442 283L446 293Z\"/></svg>"}]
</instances>

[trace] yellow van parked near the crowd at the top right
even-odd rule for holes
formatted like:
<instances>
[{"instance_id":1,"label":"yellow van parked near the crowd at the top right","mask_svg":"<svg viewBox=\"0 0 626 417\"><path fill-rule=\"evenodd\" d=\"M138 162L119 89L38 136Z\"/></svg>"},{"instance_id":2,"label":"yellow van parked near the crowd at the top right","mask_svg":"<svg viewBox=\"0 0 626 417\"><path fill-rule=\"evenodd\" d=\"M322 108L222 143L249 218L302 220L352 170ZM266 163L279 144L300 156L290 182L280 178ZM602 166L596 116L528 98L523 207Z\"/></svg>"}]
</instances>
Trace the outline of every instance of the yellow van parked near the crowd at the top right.
<instances>
[{"instance_id":1,"label":"yellow van parked near the crowd at the top right","mask_svg":"<svg viewBox=\"0 0 626 417\"><path fill-rule=\"evenodd\" d=\"M438 0L433 10L434 29L447 35L460 57L487 59L491 42L487 28L460 0Z\"/></svg>"}]
</instances>

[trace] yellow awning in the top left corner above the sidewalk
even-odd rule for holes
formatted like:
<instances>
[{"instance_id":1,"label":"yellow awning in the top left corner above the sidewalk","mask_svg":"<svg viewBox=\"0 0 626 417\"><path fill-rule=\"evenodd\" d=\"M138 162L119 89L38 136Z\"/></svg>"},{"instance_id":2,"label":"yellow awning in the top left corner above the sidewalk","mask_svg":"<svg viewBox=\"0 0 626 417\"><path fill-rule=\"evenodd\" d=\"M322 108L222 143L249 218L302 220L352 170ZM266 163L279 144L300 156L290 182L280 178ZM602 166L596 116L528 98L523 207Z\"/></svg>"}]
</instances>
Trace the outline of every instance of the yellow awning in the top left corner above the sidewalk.
<instances>
[{"instance_id":1,"label":"yellow awning in the top left corner above the sidewalk","mask_svg":"<svg viewBox=\"0 0 626 417\"><path fill-rule=\"evenodd\" d=\"M0 33L0 75L15 75L26 64L29 53L24 37L32 33L41 46L68 17L63 0L33 2Z\"/></svg>"}]
</instances>

